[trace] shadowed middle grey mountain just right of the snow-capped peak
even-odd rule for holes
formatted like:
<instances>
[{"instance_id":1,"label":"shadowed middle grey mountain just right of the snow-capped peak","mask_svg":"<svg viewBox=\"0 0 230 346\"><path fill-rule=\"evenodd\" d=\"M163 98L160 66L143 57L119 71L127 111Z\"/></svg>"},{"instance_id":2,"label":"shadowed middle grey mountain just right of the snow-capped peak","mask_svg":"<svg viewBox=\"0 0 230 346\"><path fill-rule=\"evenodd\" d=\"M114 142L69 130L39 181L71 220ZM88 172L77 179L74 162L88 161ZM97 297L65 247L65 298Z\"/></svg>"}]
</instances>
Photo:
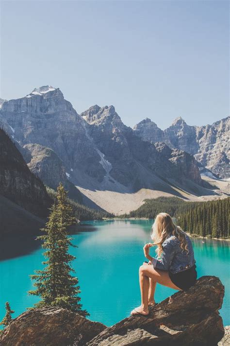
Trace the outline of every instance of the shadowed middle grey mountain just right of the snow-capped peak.
<instances>
[{"instance_id":1,"label":"shadowed middle grey mountain just right of the snow-capped peak","mask_svg":"<svg viewBox=\"0 0 230 346\"><path fill-rule=\"evenodd\" d=\"M122 123L113 106L99 108L96 105L81 115L90 124L89 133L94 143L111 163L110 176L121 184L135 182L137 189L148 187L147 173L143 174L143 168L164 178L182 181L187 178L201 183L198 168L195 169L196 161L191 155L187 155L186 159L193 167L190 170L191 165L187 164L184 169L179 155L174 154L172 159L162 155L153 144L140 140L130 127Z\"/></svg>"}]
</instances>

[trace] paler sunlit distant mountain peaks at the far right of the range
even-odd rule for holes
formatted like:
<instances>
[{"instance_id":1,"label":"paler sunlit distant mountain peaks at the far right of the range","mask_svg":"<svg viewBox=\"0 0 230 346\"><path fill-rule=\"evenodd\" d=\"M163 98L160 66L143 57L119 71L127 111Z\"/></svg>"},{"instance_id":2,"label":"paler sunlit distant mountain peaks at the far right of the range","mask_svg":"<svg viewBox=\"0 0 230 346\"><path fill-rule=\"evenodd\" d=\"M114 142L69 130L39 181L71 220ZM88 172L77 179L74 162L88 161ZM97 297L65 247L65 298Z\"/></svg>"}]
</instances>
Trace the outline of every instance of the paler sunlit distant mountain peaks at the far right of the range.
<instances>
[{"instance_id":1,"label":"paler sunlit distant mountain peaks at the far right of the range","mask_svg":"<svg viewBox=\"0 0 230 346\"><path fill-rule=\"evenodd\" d=\"M200 164L221 178L230 177L230 117L201 127L189 126L179 117L164 131L146 119L134 131L145 141L164 142L194 155Z\"/></svg>"}]
</instances>

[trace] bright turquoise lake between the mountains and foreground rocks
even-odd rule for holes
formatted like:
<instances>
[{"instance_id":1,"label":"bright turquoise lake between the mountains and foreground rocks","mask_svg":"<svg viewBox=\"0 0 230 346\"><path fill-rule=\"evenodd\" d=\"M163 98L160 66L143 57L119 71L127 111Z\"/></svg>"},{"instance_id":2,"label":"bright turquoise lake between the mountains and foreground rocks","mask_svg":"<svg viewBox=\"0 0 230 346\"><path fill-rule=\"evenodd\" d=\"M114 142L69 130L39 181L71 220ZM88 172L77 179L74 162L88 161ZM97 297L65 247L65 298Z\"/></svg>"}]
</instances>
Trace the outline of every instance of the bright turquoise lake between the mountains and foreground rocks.
<instances>
[{"instance_id":1,"label":"bright turquoise lake between the mountains and foreground rocks","mask_svg":"<svg viewBox=\"0 0 230 346\"><path fill-rule=\"evenodd\" d=\"M72 235L73 244L78 246L70 249L70 253L77 257L73 267L79 278L83 309L90 313L91 320L111 326L129 316L130 311L140 304L138 270L145 261L143 246L151 241L152 222L88 221L78 226L78 233ZM230 244L224 240L201 238L192 238L192 241L198 277L216 275L225 286L220 313L224 325L230 325ZM9 253L9 243L12 258L1 256L0 261L0 320L5 314L6 301L10 302L15 310L13 317L16 317L38 300L27 293L33 289L29 275L35 269L41 269L44 260L44 250L38 241L12 238L4 244L3 240L1 246L5 254ZM151 250L151 255L155 255L154 249ZM175 292L157 285L156 302Z\"/></svg>"}]
</instances>

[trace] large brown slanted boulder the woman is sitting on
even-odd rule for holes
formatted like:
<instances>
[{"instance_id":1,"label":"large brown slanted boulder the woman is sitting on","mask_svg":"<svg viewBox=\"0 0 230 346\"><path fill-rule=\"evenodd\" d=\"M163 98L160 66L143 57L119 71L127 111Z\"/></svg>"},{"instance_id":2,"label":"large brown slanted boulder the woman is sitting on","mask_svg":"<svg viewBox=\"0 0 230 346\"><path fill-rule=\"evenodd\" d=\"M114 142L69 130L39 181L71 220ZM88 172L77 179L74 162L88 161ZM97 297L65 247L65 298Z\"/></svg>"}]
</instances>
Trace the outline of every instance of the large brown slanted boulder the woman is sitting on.
<instances>
[{"instance_id":1,"label":"large brown slanted boulder the woman is sitting on","mask_svg":"<svg viewBox=\"0 0 230 346\"><path fill-rule=\"evenodd\" d=\"M87 346L217 345L224 335L224 286L215 276L202 276L188 291L179 291L150 308L148 316L125 318L104 329Z\"/></svg>"}]
</instances>

